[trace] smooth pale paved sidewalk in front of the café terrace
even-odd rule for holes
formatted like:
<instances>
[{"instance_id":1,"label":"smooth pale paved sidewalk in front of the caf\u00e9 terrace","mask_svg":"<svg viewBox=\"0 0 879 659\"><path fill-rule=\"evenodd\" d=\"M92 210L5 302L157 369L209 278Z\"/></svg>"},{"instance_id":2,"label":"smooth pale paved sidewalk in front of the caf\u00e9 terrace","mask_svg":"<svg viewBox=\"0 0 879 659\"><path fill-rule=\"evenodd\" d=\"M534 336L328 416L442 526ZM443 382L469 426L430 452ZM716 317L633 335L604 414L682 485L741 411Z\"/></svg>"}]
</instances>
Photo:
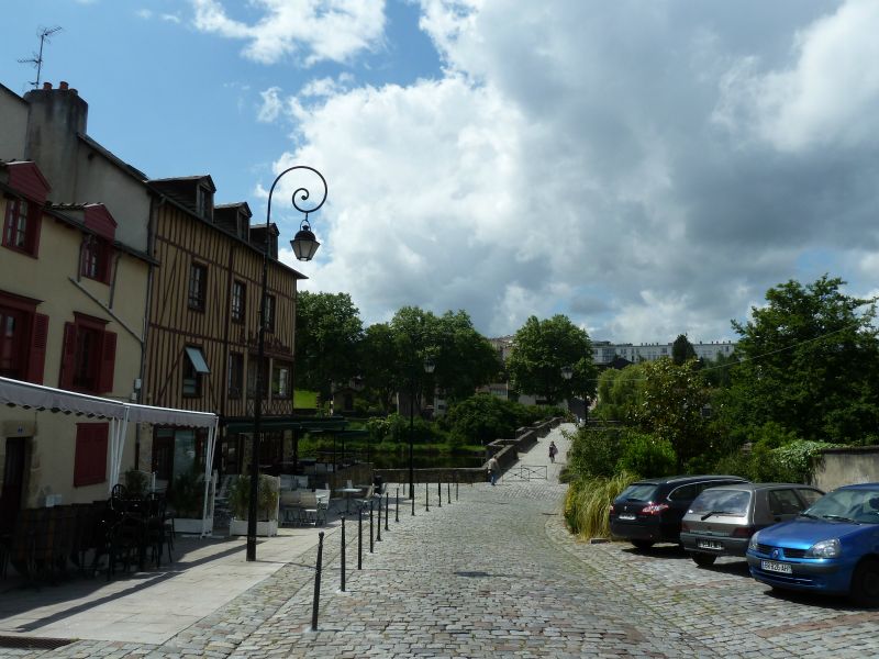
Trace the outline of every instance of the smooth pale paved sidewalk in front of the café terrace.
<instances>
[{"instance_id":1,"label":"smooth pale paved sidewalk in front of the caf\u00e9 terrace","mask_svg":"<svg viewBox=\"0 0 879 659\"><path fill-rule=\"evenodd\" d=\"M100 573L73 576L37 590L10 578L0 581L0 635L160 645L313 549L320 530L337 526L332 520L323 528L281 528L259 540L254 562L245 560L244 537L178 537L173 563L109 582Z\"/></svg>"}]
</instances>

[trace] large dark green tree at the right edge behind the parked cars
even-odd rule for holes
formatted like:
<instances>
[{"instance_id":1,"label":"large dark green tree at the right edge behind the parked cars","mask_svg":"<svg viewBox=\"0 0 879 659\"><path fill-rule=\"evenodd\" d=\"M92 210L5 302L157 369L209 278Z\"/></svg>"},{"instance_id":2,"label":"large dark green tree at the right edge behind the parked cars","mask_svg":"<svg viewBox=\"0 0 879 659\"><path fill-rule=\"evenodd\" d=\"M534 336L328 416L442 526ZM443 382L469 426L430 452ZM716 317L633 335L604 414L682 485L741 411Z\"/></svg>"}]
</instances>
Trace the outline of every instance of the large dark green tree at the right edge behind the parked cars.
<instances>
[{"instance_id":1,"label":"large dark green tree at the right edge behind the parked cars","mask_svg":"<svg viewBox=\"0 0 879 659\"><path fill-rule=\"evenodd\" d=\"M805 440L875 442L879 427L876 305L842 279L771 288L741 335L726 413L741 440L775 422Z\"/></svg>"}]
</instances>

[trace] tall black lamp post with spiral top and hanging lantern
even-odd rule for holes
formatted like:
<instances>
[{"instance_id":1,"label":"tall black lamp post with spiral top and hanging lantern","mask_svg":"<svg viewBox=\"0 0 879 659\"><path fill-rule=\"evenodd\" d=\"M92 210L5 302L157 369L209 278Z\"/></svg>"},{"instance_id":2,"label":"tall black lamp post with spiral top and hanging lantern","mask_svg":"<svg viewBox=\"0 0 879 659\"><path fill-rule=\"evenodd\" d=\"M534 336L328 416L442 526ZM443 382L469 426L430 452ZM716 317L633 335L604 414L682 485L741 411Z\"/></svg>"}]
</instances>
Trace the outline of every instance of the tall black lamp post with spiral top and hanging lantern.
<instances>
[{"instance_id":1,"label":"tall black lamp post with spiral top and hanging lantern","mask_svg":"<svg viewBox=\"0 0 879 659\"><path fill-rule=\"evenodd\" d=\"M296 165L281 171L275 178L275 181L271 183L271 188L268 191L268 204L266 206L266 245L265 250L263 252L263 284L259 294L259 331L257 333L256 391L254 392L254 438L252 451L253 455L251 456L251 500L247 507L248 561L256 560L256 500L259 493L259 444L263 421L263 387L270 375L267 372L268 369L265 369L266 372L264 372L263 361L266 357L266 297L268 289L268 253L271 236L271 196L275 192L278 181L281 180L285 175L296 170L311 171L315 174L318 178L321 179L321 183L323 183L323 196L320 198L320 201L311 208L302 208L299 205L299 202L307 201L311 197L308 188L297 188L291 198L293 208L300 213L305 214L305 217L299 225L299 231L293 239L290 241L290 245L293 247L293 254L299 260L311 260L311 258L314 256L314 253L318 252L318 247L321 246L311 231L311 224L309 224L309 213L313 213L323 205L323 202L326 201L327 192L326 179L323 178L323 175L313 167L308 167L307 165ZM297 197L299 199L297 199Z\"/></svg>"}]
</instances>

